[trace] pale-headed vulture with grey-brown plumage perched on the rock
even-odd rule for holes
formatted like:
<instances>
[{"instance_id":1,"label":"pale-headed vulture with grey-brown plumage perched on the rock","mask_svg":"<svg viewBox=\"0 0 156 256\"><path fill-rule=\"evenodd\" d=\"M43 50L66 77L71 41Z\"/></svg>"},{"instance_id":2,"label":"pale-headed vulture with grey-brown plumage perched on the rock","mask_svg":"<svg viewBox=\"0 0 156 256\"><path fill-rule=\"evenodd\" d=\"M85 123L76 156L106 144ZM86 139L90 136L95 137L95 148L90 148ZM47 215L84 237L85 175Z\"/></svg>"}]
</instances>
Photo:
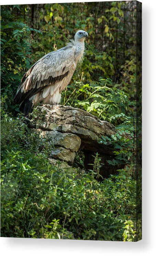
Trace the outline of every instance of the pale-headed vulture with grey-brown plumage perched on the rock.
<instances>
[{"instance_id":1,"label":"pale-headed vulture with grey-brown plumage perched on the rock","mask_svg":"<svg viewBox=\"0 0 156 256\"><path fill-rule=\"evenodd\" d=\"M25 73L14 97L14 104L20 104L25 116L41 101L59 104L60 93L69 84L77 63L82 61L86 37L86 31L77 31L74 40L43 56Z\"/></svg>"}]
</instances>

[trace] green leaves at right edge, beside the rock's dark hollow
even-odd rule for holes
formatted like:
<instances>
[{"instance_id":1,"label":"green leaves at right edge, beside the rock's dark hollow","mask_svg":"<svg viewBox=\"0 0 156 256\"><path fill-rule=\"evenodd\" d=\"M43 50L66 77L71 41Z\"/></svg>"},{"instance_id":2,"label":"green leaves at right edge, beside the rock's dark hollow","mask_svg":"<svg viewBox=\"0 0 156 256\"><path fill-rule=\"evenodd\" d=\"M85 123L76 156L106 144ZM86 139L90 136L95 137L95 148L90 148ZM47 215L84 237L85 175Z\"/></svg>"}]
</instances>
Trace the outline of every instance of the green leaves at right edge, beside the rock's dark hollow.
<instances>
[{"instance_id":1,"label":"green leaves at right edge, beside the rock's dark hollow","mask_svg":"<svg viewBox=\"0 0 156 256\"><path fill-rule=\"evenodd\" d=\"M102 136L102 138L99 140L99 143L109 145L114 148L114 154L116 156L114 159L108 160L110 165L127 164L130 166L131 174L135 176L136 113L134 109L129 108L129 112L127 114L129 114L129 116L121 113L119 115L116 114L110 118L110 120L122 118L124 122L116 126L117 131L115 134L111 135L110 137Z\"/></svg>"}]
</instances>

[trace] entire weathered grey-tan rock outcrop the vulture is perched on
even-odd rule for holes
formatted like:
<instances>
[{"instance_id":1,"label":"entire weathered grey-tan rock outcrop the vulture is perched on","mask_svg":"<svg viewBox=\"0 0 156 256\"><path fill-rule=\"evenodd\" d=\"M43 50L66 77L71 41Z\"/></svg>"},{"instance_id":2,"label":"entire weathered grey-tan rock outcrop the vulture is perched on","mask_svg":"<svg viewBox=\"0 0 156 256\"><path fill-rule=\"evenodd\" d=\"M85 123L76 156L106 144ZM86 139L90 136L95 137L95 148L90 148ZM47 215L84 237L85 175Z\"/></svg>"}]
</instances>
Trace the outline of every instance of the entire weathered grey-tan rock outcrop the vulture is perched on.
<instances>
[{"instance_id":1,"label":"entire weathered grey-tan rock outcrop the vulture is perched on","mask_svg":"<svg viewBox=\"0 0 156 256\"><path fill-rule=\"evenodd\" d=\"M107 177L115 170L107 160L113 157L113 148L99 144L101 136L115 134L115 127L107 121L101 121L85 110L70 106L37 106L39 115L37 124L43 137L49 141L52 158L72 164L76 152L81 148L85 155L85 167L91 169L93 152L102 158L101 175Z\"/></svg>"}]
</instances>

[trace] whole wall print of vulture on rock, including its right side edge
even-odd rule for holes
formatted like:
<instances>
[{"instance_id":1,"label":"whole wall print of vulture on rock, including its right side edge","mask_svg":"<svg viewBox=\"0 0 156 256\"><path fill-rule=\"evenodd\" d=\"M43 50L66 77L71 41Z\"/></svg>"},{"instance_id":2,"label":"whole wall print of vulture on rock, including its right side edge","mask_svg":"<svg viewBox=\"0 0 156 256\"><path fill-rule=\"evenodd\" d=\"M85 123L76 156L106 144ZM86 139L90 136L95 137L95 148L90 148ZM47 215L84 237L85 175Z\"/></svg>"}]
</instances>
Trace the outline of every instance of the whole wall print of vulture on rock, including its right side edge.
<instances>
[{"instance_id":1,"label":"whole wall print of vulture on rock, including its right side edge","mask_svg":"<svg viewBox=\"0 0 156 256\"><path fill-rule=\"evenodd\" d=\"M142 239L141 14L1 6L2 237Z\"/></svg>"}]
</instances>

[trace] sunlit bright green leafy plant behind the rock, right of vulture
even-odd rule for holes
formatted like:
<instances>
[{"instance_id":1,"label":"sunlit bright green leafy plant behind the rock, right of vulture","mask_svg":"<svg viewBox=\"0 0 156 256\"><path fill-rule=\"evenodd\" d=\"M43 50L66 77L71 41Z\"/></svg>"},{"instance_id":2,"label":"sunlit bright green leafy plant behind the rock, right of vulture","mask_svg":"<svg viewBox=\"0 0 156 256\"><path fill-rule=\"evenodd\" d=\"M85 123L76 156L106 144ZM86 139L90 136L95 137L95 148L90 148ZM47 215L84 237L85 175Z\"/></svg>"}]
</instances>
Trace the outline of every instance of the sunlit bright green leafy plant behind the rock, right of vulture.
<instances>
[{"instance_id":1,"label":"sunlit bright green leafy plant behind the rock, right of vulture","mask_svg":"<svg viewBox=\"0 0 156 256\"><path fill-rule=\"evenodd\" d=\"M135 102L130 100L130 95L119 87L118 84L113 85L108 78L83 84L81 77L80 82L70 84L62 93L62 104L82 108L102 120L113 120L116 125L126 119L125 114L129 107L135 106ZM112 116L113 113L118 116Z\"/></svg>"}]
</instances>

